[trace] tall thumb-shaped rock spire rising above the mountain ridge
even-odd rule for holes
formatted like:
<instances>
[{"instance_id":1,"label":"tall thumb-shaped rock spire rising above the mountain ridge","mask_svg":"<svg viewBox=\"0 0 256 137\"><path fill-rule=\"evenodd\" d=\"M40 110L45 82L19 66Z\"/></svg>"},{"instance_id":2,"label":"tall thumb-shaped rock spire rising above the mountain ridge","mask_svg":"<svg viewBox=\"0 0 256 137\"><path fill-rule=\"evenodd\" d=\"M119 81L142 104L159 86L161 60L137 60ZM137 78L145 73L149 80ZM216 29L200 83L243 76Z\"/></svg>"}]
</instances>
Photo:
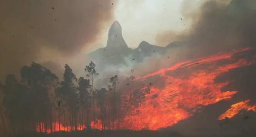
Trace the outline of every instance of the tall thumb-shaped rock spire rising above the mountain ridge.
<instances>
[{"instance_id":1,"label":"tall thumb-shaped rock spire rising above the mountain ridge","mask_svg":"<svg viewBox=\"0 0 256 137\"><path fill-rule=\"evenodd\" d=\"M122 36L122 27L118 21L114 21L109 28L107 38L107 48L110 47L123 47L128 48Z\"/></svg>"}]
</instances>

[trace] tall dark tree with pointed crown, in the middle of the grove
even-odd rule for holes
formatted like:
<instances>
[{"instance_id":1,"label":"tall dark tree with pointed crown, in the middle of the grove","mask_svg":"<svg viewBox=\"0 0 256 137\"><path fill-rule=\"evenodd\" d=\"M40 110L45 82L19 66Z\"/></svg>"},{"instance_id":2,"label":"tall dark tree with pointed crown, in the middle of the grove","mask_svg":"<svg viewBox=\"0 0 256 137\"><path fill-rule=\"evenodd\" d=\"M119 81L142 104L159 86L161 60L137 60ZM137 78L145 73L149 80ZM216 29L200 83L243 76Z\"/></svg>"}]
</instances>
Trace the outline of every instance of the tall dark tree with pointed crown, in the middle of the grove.
<instances>
[{"instance_id":1,"label":"tall dark tree with pointed crown, in the middle of the grove","mask_svg":"<svg viewBox=\"0 0 256 137\"><path fill-rule=\"evenodd\" d=\"M78 112L78 92L74 82L77 82L76 75L73 73L69 65L65 65L65 72L63 74L63 81L61 87L56 89L56 95L61 100L62 104L67 106L70 111L70 127L71 130L77 130L77 112ZM59 116L60 117L60 116Z\"/></svg>"}]
</instances>

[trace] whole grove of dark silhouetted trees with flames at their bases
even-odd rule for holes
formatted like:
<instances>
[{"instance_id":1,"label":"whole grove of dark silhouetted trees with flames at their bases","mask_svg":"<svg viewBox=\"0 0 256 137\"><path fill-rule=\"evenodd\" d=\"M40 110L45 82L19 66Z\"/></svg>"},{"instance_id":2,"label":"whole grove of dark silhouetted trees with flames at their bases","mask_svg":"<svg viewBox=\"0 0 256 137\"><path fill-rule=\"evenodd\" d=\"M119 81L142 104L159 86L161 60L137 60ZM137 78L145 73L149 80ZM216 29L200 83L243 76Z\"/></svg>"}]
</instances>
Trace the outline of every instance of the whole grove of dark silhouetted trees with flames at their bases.
<instances>
[{"instance_id":1,"label":"whole grove of dark silhouetted trees with flames at their bases","mask_svg":"<svg viewBox=\"0 0 256 137\"><path fill-rule=\"evenodd\" d=\"M147 93L134 90L129 95L122 95L117 92L118 75L109 78L107 88L96 89L94 82L99 75L96 65L90 62L84 71L86 78L77 78L66 64L60 81L49 69L32 62L31 66L20 69L21 80L13 74L7 75L0 84L1 124L5 136L121 129L121 117L129 109L139 106ZM131 70L131 76L127 78L130 83L135 80L133 74L134 70ZM134 117L139 110L136 112Z\"/></svg>"}]
</instances>

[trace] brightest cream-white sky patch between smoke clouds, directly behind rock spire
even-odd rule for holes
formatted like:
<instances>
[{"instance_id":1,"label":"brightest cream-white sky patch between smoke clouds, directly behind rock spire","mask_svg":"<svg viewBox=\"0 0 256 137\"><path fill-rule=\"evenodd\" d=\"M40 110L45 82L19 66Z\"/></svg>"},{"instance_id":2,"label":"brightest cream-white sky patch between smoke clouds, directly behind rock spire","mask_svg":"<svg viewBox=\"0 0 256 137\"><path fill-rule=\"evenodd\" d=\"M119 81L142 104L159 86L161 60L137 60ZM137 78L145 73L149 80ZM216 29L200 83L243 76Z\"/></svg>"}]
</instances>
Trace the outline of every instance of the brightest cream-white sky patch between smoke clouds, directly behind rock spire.
<instances>
[{"instance_id":1,"label":"brightest cream-white sky patch between smoke clouds, directly behind rock spire","mask_svg":"<svg viewBox=\"0 0 256 137\"><path fill-rule=\"evenodd\" d=\"M123 37L130 48L136 48L141 41L159 45L156 37L165 31L182 31L189 25L183 18L181 7L184 0L120 0L114 8L112 22L117 20L122 26ZM196 3L196 1L195 1ZM181 20L182 18L183 20ZM109 23L109 27L111 23ZM184 25L185 24L185 25ZM92 45L106 45L108 27ZM165 46L165 45L160 45Z\"/></svg>"}]
</instances>

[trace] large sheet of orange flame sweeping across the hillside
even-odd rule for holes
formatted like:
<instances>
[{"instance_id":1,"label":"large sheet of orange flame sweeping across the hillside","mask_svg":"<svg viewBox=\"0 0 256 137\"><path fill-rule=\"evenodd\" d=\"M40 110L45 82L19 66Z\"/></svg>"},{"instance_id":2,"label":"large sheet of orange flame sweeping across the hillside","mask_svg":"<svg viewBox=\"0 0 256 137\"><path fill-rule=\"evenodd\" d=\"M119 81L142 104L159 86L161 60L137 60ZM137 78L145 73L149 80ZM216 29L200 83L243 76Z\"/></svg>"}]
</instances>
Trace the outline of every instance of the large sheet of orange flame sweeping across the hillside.
<instances>
[{"instance_id":1,"label":"large sheet of orange flame sweeping across the hillside","mask_svg":"<svg viewBox=\"0 0 256 137\"><path fill-rule=\"evenodd\" d=\"M143 82L147 81L149 77L158 75L164 80L164 86L163 88L155 85L150 86L150 94L146 95L146 101L125 116L125 123L121 125L122 128L157 130L172 126L180 120L192 116L193 112L198 110L201 105L206 106L223 99L230 99L237 91L222 92L221 88L227 85L229 81L216 84L214 81L216 76L237 67L248 66L251 62L240 59L235 63L216 65L216 61L230 59L234 53L249 49L245 48L231 53L188 60L145 75L141 79ZM178 69L187 71L199 65L208 65L208 67L193 71L190 75L181 74L180 77L167 75L170 71ZM157 81L155 82L157 83ZM144 89L145 87L141 91ZM152 98L153 95L157 95L157 98Z\"/></svg>"}]
</instances>

